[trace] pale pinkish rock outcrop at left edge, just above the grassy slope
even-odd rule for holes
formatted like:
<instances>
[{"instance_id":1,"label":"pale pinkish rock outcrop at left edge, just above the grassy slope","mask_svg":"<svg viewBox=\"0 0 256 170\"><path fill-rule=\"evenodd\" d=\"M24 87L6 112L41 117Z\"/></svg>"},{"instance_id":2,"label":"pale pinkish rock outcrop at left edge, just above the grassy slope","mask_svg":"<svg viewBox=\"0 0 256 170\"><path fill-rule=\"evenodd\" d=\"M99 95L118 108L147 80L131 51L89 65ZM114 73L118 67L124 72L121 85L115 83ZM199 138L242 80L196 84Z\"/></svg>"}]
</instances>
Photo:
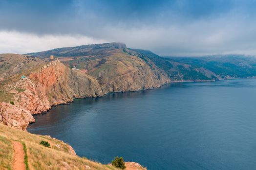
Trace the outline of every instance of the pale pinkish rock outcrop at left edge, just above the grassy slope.
<instances>
[{"instance_id":1,"label":"pale pinkish rock outcrop at left edge, just above the grassy slope","mask_svg":"<svg viewBox=\"0 0 256 170\"><path fill-rule=\"evenodd\" d=\"M0 103L0 122L16 129L26 130L29 123L35 122L31 113L10 103Z\"/></svg>"}]
</instances>

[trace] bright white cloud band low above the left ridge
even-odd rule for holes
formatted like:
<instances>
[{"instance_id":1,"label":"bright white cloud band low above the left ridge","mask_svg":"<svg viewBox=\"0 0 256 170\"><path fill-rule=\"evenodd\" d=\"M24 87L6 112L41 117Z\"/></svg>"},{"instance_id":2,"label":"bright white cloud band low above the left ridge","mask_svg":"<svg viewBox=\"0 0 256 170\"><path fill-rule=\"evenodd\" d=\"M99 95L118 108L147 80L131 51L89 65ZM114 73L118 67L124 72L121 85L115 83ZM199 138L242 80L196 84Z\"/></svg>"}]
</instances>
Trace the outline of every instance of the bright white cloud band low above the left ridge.
<instances>
[{"instance_id":1,"label":"bright white cloud band low above the left ridge","mask_svg":"<svg viewBox=\"0 0 256 170\"><path fill-rule=\"evenodd\" d=\"M104 43L106 40L84 35L36 35L16 31L0 31L0 53L29 53L81 44Z\"/></svg>"}]
</instances>

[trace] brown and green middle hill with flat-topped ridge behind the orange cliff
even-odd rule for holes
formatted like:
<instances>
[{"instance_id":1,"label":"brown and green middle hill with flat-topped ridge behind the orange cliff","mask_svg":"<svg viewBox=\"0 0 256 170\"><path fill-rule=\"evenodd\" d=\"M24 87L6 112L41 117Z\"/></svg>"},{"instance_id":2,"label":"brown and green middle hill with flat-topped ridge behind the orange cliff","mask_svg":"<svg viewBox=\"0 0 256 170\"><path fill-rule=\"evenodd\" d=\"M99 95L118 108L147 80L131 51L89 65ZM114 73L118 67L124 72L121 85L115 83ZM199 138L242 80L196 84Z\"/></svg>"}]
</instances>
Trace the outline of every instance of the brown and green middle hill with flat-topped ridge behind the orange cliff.
<instances>
[{"instance_id":1,"label":"brown and green middle hill with flat-topped ridge behind the orange cliff","mask_svg":"<svg viewBox=\"0 0 256 170\"><path fill-rule=\"evenodd\" d=\"M167 74L153 63L124 52L125 44L105 43L29 53L55 55L67 67L76 67L96 78L107 92L136 91L170 83Z\"/></svg>"}]
</instances>

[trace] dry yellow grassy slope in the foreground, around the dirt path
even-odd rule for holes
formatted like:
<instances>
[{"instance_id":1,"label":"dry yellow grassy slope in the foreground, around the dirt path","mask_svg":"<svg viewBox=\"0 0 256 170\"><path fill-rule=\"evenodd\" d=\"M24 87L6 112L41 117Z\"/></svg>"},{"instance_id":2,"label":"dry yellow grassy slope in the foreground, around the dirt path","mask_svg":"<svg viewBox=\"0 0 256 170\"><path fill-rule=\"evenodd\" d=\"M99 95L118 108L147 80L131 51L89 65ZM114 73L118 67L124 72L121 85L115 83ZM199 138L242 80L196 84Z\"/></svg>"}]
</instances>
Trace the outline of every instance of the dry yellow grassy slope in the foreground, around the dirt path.
<instances>
[{"instance_id":1,"label":"dry yellow grassy slope in the foreground, around the dirt path","mask_svg":"<svg viewBox=\"0 0 256 170\"><path fill-rule=\"evenodd\" d=\"M11 140L25 143L27 148L29 170L61 170L66 162L72 170L85 170L85 165L96 170L115 170L107 165L90 161L86 158L73 156L68 153L68 146L62 141L47 136L33 135L21 130L0 125L0 169L11 169L13 149ZM39 145L41 140L51 143L51 148ZM56 147L55 145L61 145ZM2 156L3 155L3 156Z\"/></svg>"}]
</instances>

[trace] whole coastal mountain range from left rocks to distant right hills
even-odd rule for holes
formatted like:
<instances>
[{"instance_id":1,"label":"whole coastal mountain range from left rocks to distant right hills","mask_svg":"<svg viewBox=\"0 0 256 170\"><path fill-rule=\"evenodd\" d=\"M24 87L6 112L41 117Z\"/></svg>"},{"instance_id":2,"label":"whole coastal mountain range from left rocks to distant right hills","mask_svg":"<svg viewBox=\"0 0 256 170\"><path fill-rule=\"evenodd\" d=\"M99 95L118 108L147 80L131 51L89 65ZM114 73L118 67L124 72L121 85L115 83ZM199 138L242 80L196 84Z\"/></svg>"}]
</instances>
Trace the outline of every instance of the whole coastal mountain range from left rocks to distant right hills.
<instances>
[{"instance_id":1,"label":"whole coastal mountain range from left rocks to distant right hills","mask_svg":"<svg viewBox=\"0 0 256 170\"><path fill-rule=\"evenodd\" d=\"M49 60L50 55L56 59ZM0 122L25 130L35 121L31 114L74 98L151 89L171 82L254 76L255 57L160 57L115 42L24 55L0 54Z\"/></svg>"}]
</instances>

